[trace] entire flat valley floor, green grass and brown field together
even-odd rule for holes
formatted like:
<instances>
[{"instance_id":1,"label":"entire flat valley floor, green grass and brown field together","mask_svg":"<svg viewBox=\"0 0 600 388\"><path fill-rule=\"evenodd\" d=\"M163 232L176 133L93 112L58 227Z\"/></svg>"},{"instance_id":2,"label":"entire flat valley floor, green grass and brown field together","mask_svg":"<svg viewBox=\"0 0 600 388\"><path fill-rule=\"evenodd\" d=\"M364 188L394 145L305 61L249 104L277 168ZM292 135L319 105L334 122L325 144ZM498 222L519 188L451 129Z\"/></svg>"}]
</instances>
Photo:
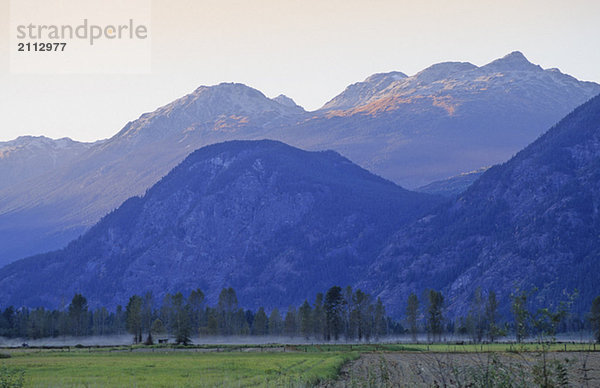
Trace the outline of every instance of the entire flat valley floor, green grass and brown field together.
<instances>
[{"instance_id":1,"label":"entire flat valley floor, green grass and brown field together","mask_svg":"<svg viewBox=\"0 0 600 388\"><path fill-rule=\"evenodd\" d=\"M5 348L0 386L21 376L26 387L521 387L536 386L536 378L600 386L600 348L539 350L535 344Z\"/></svg>"}]
</instances>

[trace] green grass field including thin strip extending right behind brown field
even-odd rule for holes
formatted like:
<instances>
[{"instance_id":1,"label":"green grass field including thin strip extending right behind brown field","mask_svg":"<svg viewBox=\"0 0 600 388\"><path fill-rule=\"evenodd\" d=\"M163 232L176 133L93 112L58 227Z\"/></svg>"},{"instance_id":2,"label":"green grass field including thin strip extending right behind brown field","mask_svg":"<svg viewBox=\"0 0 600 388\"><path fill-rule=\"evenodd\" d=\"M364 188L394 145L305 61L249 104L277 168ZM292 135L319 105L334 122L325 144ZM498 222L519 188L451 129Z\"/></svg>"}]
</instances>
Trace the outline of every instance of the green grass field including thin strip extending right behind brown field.
<instances>
[{"instance_id":1,"label":"green grass field including thin strip extending right behind brown field","mask_svg":"<svg viewBox=\"0 0 600 388\"><path fill-rule=\"evenodd\" d=\"M550 349L556 354L573 353L593 350L593 345L553 344ZM464 358L460 354L534 353L539 350L537 344L5 349L0 353L8 353L11 357L0 359L0 365L11 370L24 370L27 387L302 387L331 382L344 365L344 368L349 365L352 368L348 362L357 360L361 354L392 355L386 357L405 354L399 356L403 360L425 357L419 361L423 363L426 357L431 357L428 354L436 353L457 354ZM398 364L395 359L392 363Z\"/></svg>"}]
</instances>

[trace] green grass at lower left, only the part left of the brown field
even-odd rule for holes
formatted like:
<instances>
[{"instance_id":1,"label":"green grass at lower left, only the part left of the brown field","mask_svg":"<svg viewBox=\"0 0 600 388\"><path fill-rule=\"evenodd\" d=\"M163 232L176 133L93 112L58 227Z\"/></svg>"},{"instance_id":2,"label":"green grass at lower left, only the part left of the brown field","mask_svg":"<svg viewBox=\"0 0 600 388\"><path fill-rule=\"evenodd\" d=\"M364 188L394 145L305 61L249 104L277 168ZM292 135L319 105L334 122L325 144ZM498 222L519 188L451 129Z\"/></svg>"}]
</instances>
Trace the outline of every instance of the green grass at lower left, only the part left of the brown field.
<instances>
[{"instance_id":1,"label":"green grass at lower left, only the part left of the brown field","mask_svg":"<svg viewBox=\"0 0 600 388\"><path fill-rule=\"evenodd\" d=\"M12 352L27 387L305 386L335 379L355 352Z\"/></svg>"}]
</instances>

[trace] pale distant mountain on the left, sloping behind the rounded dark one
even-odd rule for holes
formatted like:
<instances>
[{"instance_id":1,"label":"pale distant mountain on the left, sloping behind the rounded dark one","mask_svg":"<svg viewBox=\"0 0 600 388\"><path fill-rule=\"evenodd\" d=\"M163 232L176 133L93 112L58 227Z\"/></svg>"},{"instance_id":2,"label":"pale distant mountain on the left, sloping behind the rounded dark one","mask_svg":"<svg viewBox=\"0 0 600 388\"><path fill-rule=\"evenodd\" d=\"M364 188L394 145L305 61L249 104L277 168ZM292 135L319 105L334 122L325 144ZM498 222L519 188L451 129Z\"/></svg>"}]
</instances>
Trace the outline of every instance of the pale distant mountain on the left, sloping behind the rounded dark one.
<instances>
[{"instance_id":1,"label":"pale distant mountain on the left, sloping behind the rounded dark one","mask_svg":"<svg viewBox=\"0 0 600 388\"><path fill-rule=\"evenodd\" d=\"M32 181L0 189L0 265L65 246L124 200L143 194L188 154L226 139L261 138L302 117L241 84L199 87L142 115ZM22 163L37 165L37 159ZM0 160L0 166L3 161ZM0 167L1 170L1 167Z\"/></svg>"}]
</instances>

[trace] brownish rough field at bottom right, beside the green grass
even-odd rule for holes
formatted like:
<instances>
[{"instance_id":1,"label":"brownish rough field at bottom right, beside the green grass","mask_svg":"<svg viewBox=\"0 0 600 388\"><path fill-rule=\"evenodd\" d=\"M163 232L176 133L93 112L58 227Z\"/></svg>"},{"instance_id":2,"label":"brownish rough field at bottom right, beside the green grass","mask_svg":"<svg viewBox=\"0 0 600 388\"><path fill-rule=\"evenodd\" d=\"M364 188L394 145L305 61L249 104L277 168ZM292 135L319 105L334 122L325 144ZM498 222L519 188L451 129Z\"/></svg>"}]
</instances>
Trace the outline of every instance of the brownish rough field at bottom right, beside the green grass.
<instances>
[{"instance_id":1,"label":"brownish rough field at bottom right, beside the green grass","mask_svg":"<svg viewBox=\"0 0 600 388\"><path fill-rule=\"evenodd\" d=\"M532 372L543 375L541 360L534 353L369 353L325 387L535 386ZM546 370L557 383L600 387L600 352L549 353Z\"/></svg>"}]
</instances>

